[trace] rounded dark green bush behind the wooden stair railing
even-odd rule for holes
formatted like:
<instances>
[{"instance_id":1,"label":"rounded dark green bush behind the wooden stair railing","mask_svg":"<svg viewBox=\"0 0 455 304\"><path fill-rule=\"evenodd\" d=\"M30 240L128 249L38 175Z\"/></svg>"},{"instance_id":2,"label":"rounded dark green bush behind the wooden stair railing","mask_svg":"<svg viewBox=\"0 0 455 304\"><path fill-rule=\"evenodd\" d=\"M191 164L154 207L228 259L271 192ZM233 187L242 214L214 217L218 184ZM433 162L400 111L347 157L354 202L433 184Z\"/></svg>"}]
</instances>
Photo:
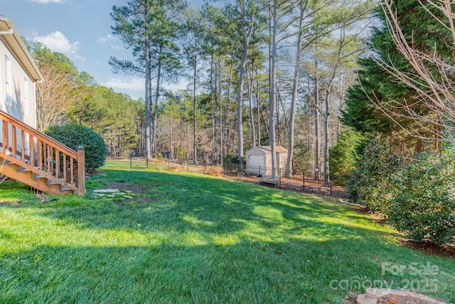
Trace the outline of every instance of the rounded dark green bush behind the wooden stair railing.
<instances>
[{"instance_id":1,"label":"rounded dark green bush behind the wooden stair railing","mask_svg":"<svg viewBox=\"0 0 455 304\"><path fill-rule=\"evenodd\" d=\"M77 147L79 146L84 147L86 172L97 169L105 164L105 140L88 127L75 123L70 123L61 127L55 125L46 130L45 134L73 150L77 150Z\"/></svg>"}]
</instances>

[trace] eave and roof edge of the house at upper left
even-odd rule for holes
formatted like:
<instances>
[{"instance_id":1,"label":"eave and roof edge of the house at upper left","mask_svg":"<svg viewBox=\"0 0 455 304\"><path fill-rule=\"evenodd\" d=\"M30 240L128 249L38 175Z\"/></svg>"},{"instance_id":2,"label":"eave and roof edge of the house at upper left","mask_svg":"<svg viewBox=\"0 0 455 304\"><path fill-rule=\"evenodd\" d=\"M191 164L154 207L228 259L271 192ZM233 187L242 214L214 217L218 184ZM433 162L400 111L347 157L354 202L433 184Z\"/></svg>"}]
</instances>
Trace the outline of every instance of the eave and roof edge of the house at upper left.
<instances>
[{"instance_id":1,"label":"eave and roof edge of the house at upper left","mask_svg":"<svg viewBox=\"0 0 455 304\"><path fill-rule=\"evenodd\" d=\"M9 33L12 30L12 33ZM11 51L16 54L18 61L21 63L23 68L26 70L28 75L33 81L43 80L43 76L38 70L33 58L30 53L28 53L25 44L19 36L16 28L10 19L5 16L0 15L0 32L4 32L3 35L0 35L1 40L3 40Z\"/></svg>"}]
</instances>

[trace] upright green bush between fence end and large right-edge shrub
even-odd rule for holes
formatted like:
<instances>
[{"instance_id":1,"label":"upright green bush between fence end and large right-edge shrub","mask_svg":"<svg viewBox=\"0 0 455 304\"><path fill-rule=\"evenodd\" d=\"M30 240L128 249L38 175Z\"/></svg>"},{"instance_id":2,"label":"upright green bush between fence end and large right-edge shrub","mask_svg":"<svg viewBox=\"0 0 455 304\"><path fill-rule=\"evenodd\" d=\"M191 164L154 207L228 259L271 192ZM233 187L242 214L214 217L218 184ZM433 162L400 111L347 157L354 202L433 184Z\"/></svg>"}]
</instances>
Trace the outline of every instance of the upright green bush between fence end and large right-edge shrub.
<instances>
[{"instance_id":1,"label":"upright green bush between fence end and large right-edge shrub","mask_svg":"<svg viewBox=\"0 0 455 304\"><path fill-rule=\"evenodd\" d=\"M400 165L400 158L389 146L380 139L370 140L346 184L348 199L370 211L383 212L392 197L392 179Z\"/></svg>"}]
</instances>

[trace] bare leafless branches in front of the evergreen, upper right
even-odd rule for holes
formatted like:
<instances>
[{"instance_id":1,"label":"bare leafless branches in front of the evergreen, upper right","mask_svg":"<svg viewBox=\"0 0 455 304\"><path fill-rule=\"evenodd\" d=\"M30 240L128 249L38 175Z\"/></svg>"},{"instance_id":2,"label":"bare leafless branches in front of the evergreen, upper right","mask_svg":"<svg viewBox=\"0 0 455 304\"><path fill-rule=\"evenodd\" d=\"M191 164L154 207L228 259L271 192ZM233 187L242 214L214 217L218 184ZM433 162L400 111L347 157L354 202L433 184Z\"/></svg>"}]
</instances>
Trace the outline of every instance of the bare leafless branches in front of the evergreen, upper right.
<instances>
[{"instance_id":1,"label":"bare leafless branches in front of the evergreen, upper right","mask_svg":"<svg viewBox=\"0 0 455 304\"><path fill-rule=\"evenodd\" d=\"M441 56L437 43L423 51L414 46L414 37L409 38L400 27L400 20L393 8L394 0L383 0L380 4L392 41L397 51L410 64L412 73L409 70L400 70L387 58L376 58L374 55L372 58L397 80L415 90L419 98L418 100L390 100L392 104L389 103L388 108L382 106L374 95L370 100L411 135L429 138L428 134L430 134L433 140L441 139L455 143L454 58ZM455 51L455 16L452 11L454 0L419 0L419 4L431 16L435 26L441 26L449 33L446 36L449 40L443 42L451 52ZM427 110L424 115L422 108ZM400 118L411 119L420 128L410 130L400 124Z\"/></svg>"}]
</instances>

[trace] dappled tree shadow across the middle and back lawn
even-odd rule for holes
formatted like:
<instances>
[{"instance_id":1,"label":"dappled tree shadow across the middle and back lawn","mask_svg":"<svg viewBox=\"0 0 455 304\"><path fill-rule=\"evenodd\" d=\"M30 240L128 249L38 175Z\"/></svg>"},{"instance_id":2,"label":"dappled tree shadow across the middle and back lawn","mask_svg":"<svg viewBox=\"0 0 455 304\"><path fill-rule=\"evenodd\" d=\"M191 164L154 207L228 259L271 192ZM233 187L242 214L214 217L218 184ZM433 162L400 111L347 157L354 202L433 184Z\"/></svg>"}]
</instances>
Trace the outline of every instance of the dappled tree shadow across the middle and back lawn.
<instances>
[{"instance_id":1,"label":"dappled tree shadow across the middle and back lawn","mask_svg":"<svg viewBox=\"0 0 455 304\"><path fill-rule=\"evenodd\" d=\"M105 188L109 182L146 187L141 187L141 193L132 193L132 196L137 196L137 201L114 199L113 202L77 197L68 201L62 198L60 202L41 208L41 214L95 229L171 229L178 232L201 231L204 234L232 234L250 229L253 239L264 237L264 231L268 231L270 236L282 237L283 231L305 234L306 229L314 237L324 240L347 236L359 238L365 236L365 231L382 236L392 234L390 229L371 224L366 216L355 213L353 207L340 204L335 199L284 192L201 174L105 172L105 176L92 177L87 182L89 192L99 185ZM77 201L82 202L77 204Z\"/></svg>"}]
</instances>

